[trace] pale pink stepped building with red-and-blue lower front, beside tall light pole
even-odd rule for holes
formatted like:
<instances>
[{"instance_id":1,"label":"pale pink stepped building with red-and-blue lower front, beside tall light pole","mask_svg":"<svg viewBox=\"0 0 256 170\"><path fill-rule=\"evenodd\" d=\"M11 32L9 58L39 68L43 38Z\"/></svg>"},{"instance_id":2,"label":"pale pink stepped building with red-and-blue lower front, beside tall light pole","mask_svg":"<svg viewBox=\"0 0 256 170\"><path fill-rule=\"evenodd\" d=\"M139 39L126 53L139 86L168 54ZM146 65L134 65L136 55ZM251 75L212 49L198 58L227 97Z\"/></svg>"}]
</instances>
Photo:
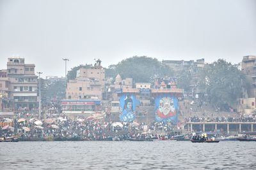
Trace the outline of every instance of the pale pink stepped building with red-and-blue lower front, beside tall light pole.
<instances>
[{"instance_id":1,"label":"pale pink stepped building with red-and-blue lower front, beside tall light pole","mask_svg":"<svg viewBox=\"0 0 256 170\"><path fill-rule=\"evenodd\" d=\"M102 93L105 92L105 70L99 66L77 71L75 80L69 80L67 100L61 101L63 113L95 113L100 108Z\"/></svg>"}]
</instances>

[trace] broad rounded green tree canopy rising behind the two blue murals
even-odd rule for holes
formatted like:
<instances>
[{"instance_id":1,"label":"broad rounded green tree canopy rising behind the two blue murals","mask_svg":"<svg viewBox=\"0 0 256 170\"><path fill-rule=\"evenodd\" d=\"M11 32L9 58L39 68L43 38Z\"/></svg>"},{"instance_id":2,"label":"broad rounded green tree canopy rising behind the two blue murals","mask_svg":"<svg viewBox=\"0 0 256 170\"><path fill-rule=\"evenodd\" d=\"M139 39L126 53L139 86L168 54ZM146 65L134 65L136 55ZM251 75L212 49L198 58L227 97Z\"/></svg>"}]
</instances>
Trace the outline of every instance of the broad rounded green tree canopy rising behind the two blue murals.
<instances>
[{"instance_id":1,"label":"broad rounded green tree canopy rising behind the two blue murals","mask_svg":"<svg viewBox=\"0 0 256 170\"><path fill-rule=\"evenodd\" d=\"M173 71L157 59L134 56L122 60L115 66L116 73L122 78L133 78L135 82L149 82L154 76L172 76Z\"/></svg>"}]
</instances>

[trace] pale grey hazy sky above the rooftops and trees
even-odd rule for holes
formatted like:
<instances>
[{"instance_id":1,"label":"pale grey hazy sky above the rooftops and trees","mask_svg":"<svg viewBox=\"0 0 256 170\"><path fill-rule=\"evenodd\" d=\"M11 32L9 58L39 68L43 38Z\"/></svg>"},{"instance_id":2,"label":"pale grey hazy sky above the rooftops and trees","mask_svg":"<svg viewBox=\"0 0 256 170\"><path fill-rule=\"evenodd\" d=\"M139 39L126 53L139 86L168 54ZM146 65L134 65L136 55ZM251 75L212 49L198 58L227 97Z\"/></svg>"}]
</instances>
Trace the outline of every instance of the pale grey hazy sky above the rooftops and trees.
<instances>
[{"instance_id":1,"label":"pale grey hazy sky above the rooftops and trees","mask_svg":"<svg viewBox=\"0 0 256 170\"><path fill-rule=\"evenodd\" d=\"M159 60L256 55L256 1L0 0L0 69L19 55L45 76L100 58Z\"/></svg>"}]
</instances>

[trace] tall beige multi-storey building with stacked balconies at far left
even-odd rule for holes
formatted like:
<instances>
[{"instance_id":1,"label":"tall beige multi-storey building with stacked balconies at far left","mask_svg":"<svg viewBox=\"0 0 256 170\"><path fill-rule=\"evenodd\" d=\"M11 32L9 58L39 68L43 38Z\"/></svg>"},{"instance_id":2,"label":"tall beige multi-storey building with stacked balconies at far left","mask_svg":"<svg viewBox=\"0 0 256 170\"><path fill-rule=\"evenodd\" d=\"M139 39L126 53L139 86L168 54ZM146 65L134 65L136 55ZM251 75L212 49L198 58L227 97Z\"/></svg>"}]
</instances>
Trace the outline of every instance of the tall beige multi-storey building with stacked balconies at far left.
<instances>
[{"instance_id":1,"label":"tall beige multi-storey building with stacked balconies at far left","mask_svg":"<svg viewBox=\"0 0 256 170\"><path fill-rule=\"evenodd\" d=\"M10 80L10 100L13 110L37 108L37 76L35 64L25 64L23 58L8 58L7 77Z\"/></svg>"}]
</instances>

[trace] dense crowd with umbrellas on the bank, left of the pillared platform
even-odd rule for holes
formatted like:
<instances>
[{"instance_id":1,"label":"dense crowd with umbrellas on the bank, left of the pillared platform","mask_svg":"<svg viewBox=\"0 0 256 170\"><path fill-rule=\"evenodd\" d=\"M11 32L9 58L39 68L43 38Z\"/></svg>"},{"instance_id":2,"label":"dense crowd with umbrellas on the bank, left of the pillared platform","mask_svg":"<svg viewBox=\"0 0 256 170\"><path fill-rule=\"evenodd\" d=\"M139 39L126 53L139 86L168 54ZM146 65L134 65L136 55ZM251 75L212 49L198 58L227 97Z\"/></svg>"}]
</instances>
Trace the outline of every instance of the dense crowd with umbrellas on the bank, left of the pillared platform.
<instances>
[{"instance_id":1,"label":"dense crowd with umbrellas on the bank, left of the pillared platform","mask_svg":"<svg viewBox=\"0 0 256 170\"><path fill-rule=\"evenodd\" d=\"M16 113L15 118L1 118L0 122L13 122L12 126L0 127L0 136L17 136L21 140L108 140L124 138L156 138L158 132L166 134L174 124L152 122L109 122L103 119L75 117L63 114L47 114L38 120L29 113ZM147 132L145 132L147 131Z\"/></svg>"}]
</instances>

